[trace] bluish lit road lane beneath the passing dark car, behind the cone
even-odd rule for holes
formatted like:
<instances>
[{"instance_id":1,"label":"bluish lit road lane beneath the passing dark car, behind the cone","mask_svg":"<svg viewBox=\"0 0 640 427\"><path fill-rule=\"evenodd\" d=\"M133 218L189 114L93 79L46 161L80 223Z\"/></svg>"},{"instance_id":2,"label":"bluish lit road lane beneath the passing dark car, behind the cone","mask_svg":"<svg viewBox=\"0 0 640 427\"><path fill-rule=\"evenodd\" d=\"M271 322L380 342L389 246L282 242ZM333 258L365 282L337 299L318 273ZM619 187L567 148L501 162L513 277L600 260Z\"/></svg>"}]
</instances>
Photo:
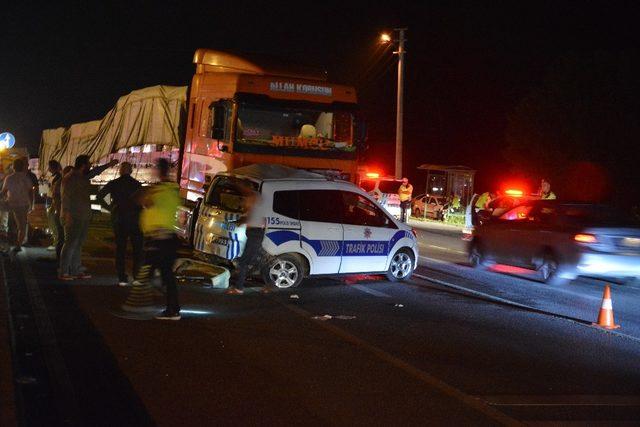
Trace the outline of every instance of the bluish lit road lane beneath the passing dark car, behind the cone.
<instances>
[{"instance_id":1,"label":"bluish lit road lane beneath the passing dark car, behind the cone","mask_svg":"<svg viewBox=\"0 0 640 427\"><path fill-rule=\"evenodd\" d=\"M438 223L414 223L420 245L420 265L427 276L549 313L594 322L604 285L612 289L618 332L640 339L640 285L579 278L562 286L546 285L533 271L498 265L478 271L467 264L466 245L459 229Z\"/></svg>"}]
</instances>

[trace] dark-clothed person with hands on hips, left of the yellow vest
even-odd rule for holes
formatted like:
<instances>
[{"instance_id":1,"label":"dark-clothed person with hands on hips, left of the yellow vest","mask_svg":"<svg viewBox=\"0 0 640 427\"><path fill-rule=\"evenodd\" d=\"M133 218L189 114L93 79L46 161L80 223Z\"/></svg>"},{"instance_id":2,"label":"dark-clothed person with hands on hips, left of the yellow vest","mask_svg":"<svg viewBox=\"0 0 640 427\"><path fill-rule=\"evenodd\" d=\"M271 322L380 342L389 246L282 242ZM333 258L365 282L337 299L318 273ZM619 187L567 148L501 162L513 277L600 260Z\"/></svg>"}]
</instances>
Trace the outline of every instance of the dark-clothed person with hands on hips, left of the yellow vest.
<instances>
[{"instance_id":1,"label":"dark-clothed person with hands on hips, left of the yellow vest","mask_svg":"<svg viewBox=\"0 0 640 427\"><path fill-rule=\"evenodd\" d=\"M133 253L133 277L138 274L142 261L142 231L140 231L140 205L133 196L142 184L131 176L133 167L129 162L120 164L120 176L109 181L98 191L96 199L100 206L111 212L111 224L116 241L116 271L118 285L127 286L129 280L125 272L127 242L131 240ZM105 201L111 195L111 203Z\"/></svg>"}]
</instances>

